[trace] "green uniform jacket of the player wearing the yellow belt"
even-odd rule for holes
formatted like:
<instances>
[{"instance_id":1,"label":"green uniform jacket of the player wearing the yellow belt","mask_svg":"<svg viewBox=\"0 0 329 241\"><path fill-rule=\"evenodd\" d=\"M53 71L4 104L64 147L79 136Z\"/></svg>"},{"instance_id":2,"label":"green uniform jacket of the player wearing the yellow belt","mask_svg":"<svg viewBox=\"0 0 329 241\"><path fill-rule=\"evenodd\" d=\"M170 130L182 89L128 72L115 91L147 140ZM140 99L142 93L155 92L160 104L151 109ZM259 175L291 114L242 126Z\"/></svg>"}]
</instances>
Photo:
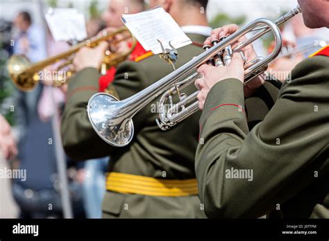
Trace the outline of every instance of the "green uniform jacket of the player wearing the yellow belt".
<instances>
[{"instance_id":1,"label":"green uniform jacket of the player wearing the yellow belt","mask_svg":"<svg viewBox=\"0 0 329 241\"><path fill-rule=\"evenodd\" d=\"M203 43L205 36L189 34L193 42ZM178 49L176 67L203 53L201 46L191 44ZM121 100L142 91L172 70L171 66L153 55L140 62L119 64L115 87ZM121 172L156 179L193 179L194 157L199 139L201 112L189 116L166 132L155 123L156 104L151 102L133 118L135 136L124 148L108 145L94 132L87 117L86 106L98 90L99 73L84 69L69 82L67 104L62 116L62 143L65 152L75 160L110 156L108 172ZM185 89L190 94L194 85ZM248 99L259 111L250 111L251 123L258 123L273 105L278 89L269 84ZM160 98L160 97L159 97ZM262 99L264 98L264 100ZM126 205L126 206L125 206ZM128 206L128 209L125 208ZM104 217L205 217L198 195L188 197L155 197L126 195L108 191L103 201Z\"/></svg>"}]
</instances>

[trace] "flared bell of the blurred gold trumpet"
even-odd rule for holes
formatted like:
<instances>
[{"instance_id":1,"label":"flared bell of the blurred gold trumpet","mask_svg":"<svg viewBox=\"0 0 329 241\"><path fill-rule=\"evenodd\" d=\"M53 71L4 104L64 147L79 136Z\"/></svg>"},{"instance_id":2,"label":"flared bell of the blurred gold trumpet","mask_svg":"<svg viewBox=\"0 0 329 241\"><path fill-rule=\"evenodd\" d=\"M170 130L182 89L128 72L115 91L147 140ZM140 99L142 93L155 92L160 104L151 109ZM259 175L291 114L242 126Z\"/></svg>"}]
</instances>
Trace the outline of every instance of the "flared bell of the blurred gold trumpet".
<instances>
[{"instance_id":1,"label":"flared bell of the blurred gold trumpet","mask_svg":"<svg viewBox=\"0 0 329 241\"><path fill-rule=\"evenodd\" d=\"M8 73L15 86L22 91L31 91L35 88L39 76L24 73L32 63L24 55L12 55L8 60Z\"/></svg>"}]
</instances>

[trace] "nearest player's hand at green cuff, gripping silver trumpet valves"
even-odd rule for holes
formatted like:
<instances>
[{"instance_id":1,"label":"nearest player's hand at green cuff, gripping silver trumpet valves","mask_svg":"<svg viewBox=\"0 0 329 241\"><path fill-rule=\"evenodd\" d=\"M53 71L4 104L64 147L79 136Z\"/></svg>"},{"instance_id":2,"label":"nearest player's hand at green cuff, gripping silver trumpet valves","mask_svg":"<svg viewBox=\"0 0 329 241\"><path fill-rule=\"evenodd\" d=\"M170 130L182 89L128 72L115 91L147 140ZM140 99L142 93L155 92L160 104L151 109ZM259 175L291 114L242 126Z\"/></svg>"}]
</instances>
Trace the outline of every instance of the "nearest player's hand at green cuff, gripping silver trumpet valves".
<instances>
[{"instance_id":1,"label":"nearest player's hand at green cuff, gripping silver trumpet valves","mask_svg":"<svg viewBox=\"0 0 329 241\"><path fill-rule=\"evenodd\" d=\"M235 78L244 82L244 60L240 53L234 53L232 61L228 66L215 67L203 64L199 67L198 73L203 75L203 78L195 82L196 88L200 90L198 100L199 107L202 110L205 105L205 99L214 84L228 78Z\"/></svg>"}]
</instances>

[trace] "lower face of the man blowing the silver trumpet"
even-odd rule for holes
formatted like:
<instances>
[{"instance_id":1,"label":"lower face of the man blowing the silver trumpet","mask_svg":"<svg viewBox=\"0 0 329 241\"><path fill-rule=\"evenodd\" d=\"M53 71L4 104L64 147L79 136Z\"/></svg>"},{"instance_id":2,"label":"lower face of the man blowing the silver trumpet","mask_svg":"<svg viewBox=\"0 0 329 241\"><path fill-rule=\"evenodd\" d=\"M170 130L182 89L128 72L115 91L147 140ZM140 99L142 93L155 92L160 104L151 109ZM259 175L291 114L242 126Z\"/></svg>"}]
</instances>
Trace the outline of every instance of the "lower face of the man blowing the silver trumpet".
<instances>
[{"instance_id":1,"label":"lower face of the man blowing the silver trumpet","mask_svg":"<svg viewBox=\"0 0 329 241\"><path fill-rule=\"evenodd\" d=\"M298 0L301 6L303 20L309 28L329 27L328 0Z\"/></svg>"}]
</instances>

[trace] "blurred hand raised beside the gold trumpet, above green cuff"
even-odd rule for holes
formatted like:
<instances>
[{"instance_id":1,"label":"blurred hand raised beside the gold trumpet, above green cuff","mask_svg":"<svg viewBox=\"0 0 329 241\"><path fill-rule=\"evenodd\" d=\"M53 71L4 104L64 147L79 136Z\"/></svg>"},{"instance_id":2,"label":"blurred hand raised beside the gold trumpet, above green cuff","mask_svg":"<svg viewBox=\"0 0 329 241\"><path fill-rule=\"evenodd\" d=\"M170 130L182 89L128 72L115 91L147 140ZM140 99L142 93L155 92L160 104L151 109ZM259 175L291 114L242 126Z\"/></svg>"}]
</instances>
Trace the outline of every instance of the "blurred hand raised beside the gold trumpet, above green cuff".
<instances>
[{"instance_id":1,"label":"blurred hand raised beside the gold trumpet, above green cuff","mask_svg":"<svg viewBox=\"0 0 329 241\"><path fill-rule=\"evenodd\" d=\"M101 42L94 48L83 47L74 57L73 64L76 71L92 67L96 69L101 68L105 52L108 50L108 42Z\"/></svg>"}]
</instances>

